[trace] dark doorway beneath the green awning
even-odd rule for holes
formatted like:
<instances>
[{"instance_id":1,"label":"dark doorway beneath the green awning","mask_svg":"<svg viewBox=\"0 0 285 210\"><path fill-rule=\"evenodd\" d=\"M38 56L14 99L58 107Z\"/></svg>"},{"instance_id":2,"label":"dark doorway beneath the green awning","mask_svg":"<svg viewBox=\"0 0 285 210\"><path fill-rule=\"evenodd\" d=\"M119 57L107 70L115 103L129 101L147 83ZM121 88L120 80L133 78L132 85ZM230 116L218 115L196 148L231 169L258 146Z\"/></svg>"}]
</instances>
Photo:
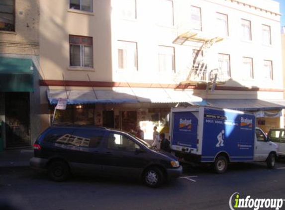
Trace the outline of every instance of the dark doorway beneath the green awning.
<instances>
[{"instance_id":1,"label":"dark doorway beneath the green awning","mask_svg":"<svg viewBox=\"0 0 285 210\"><path fill-rule=\"evenodd\" d=\"M30 146L29 107L29 93L5 93L6 148Z\"/></svg>"}]
</instances>

